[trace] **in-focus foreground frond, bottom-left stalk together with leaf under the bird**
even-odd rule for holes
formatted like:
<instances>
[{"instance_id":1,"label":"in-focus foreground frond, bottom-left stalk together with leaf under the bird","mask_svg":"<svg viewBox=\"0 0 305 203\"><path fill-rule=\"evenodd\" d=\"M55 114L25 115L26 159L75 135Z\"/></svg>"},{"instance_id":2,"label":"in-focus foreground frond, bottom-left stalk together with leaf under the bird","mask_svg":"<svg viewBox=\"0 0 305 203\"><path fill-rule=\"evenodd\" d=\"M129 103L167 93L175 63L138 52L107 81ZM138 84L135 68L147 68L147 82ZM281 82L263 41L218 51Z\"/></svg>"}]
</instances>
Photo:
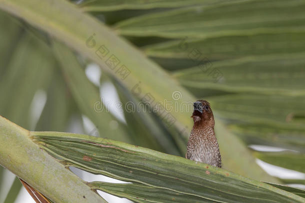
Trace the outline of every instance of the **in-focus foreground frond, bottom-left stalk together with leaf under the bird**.
<instances>
[{"instance_id":1,"label":"in-focus foreground frond, bottom-left stalk together with leaf under the bird","mask_svg":"<svg viewBox=\"0 0 305 203\"><path fill-rule=\"evenodd\" d=\"M161 202L163 198L165 201L172 192L181 194L182 198L184 195L189 195L189 198L200 198L202 201L207 199L236 202L246 199L248 202L302 202L304 200L293 193L221 168L147 148L88 135L29 132L3 117L0 117L0 126L2 134L0 152L3 154L0 157L0 164L12 170L20 178L26 179L31 187L55 202L73 198L82 199L83 202L101 201L101 199L97 201L98 198L93 195L95 193L86 187L102 189L103 184L101 182L84 184L66 168L69 166L134 182L136 184L131 188L137 187L138 191L140 188L143 192L147 190L145 186L162 189L164 194L158 197ZM4 147L8 146L7 142L10 142L8 149ZM19 145L20 142L26 147L15 148L14 146ZM15 149L13 154L9 150L11 147ZM9 160L4 158L8 154ZM15 161L20 165L14 165ZM54 171L60 178L49 178L53 177ZM39 184L44 181L47 184ZM73 189L67 193L63 188L71 185L72 182ZM105 187L102 190L111 188L106 184ZM111 192L117 193L118 188L115 187ZM124 195L130 196L130 191L132 189ZM147 198L155 198L155 196Z\"/></svg>"}]
</instances>

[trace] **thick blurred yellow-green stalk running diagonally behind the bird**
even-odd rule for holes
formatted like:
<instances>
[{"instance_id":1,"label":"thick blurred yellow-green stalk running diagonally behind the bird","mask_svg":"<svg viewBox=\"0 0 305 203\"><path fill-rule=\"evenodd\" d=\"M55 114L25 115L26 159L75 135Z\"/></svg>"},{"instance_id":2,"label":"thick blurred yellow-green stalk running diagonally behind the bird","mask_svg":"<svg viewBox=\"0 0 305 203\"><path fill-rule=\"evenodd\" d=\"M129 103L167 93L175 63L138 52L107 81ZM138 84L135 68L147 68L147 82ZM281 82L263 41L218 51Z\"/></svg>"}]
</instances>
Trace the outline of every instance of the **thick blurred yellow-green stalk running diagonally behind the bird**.
<instances>
[{"instance_id":1,"label":"thick blurred yellow-green stalk running diagonally behind the bird","mask_svg":"<svg viewBox=\"0 0 305 203\"><path fill-rule=\"evenodd\" d=\"M176 102L177 105L196 100L176 80L148 60L142 52L66 1L0 0L0 8L24 19L66 43L83 56L92 59L138 99L143 101L146 98L144 101L147 102L147 96L152 96L150 98L153 98L154 103L150 103L151 107L155 107L156 102L164 100ZM45 8L48 9L45 10ZM107 56L104 56L105 54ZM116 61L114 65L107 61L110 57ZM117 60L120 62L119 65ZM122 70L129 70L129 72L122 73L120 72ZM181 93L181 97L177 100L172 97L175 92ZM171 111L170 114L166 113L164 116L164 110L168 112L169 109L157 111L156 114L168 128L177 129L178 133L173 133L173 139L179 150L185 152L185 145L192 126L191 113L176 110ZM276 179L267 175L252 161L253 157L246 147L224 128L221 120L215 118L215 122L217 123L216 133L220 150L223 151L223 154L227 154L227 156L223 156L224 166L227 165L228 169L258 180L276 182ZM238 153L231 153L231 146L227 145L227 141L232 142ZM243 154L244 159L250 161L236 161L239 160L240 154Z\"/></svg>"}]
</instances>

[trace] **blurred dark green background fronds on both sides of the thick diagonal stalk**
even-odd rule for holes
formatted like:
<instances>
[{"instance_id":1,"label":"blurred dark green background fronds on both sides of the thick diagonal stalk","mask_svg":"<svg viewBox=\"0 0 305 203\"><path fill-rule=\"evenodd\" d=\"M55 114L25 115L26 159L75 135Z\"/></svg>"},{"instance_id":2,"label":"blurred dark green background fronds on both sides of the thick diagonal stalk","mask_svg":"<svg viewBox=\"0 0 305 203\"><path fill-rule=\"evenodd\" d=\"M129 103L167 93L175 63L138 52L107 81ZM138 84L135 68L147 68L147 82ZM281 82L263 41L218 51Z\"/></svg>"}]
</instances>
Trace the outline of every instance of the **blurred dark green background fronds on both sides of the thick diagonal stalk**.
<instances>
[{"instance_id":1,"label":"blurred dark green background fronds on both sides of the thick diagonal stalk","mask_svg":"<svg viewBox=\"0 0 305 203\"><path fill-rule=\"evenodd\" d=\"M141 50L196 98L208 100L245 146L278 149L252 147L252 156L305 172L305 1L72 3ZM158 115L124 111L121 119L93 110L102 84L113 84L123 104L138 98L106 72L92 82L86 76L92 62L85 56L55 53L47 33L3 11L0 28L0 115L29 130L73 131L77 125L80 133L183 156L177 131ZM92 129L84 126L86 119ZM232 154L223 156L243 156L231 147ZM1 168L0 180L3 174ZM304 179L278 181L305 184ZM3 187L0 182L0 191ZM10 192L20 187L14 181ZM9 196L6 202L13 202L15 195Z\"/></svg>"}]
</instances>

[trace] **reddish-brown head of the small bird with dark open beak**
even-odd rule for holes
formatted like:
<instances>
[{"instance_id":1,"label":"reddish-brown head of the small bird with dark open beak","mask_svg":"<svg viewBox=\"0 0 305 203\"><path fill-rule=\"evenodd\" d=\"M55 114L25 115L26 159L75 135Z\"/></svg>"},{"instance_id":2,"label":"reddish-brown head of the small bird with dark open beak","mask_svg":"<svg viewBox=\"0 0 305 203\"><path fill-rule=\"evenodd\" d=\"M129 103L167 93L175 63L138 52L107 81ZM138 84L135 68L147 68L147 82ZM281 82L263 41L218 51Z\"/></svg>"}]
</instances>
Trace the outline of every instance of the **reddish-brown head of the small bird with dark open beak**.
<instances>
[{"instance_id":1,"label":"reddish-brown head of the small bird with dark open beak","mask_svg":"<svg viewBox=\"0 0 305 203\"><path fill-rule=\"evenodd\" d=\"M194 102L194 112L192 116L194 124L203 124L214 126L214 116L210 105L205 100L198 100Z\"/></svg>"}]
</instances>

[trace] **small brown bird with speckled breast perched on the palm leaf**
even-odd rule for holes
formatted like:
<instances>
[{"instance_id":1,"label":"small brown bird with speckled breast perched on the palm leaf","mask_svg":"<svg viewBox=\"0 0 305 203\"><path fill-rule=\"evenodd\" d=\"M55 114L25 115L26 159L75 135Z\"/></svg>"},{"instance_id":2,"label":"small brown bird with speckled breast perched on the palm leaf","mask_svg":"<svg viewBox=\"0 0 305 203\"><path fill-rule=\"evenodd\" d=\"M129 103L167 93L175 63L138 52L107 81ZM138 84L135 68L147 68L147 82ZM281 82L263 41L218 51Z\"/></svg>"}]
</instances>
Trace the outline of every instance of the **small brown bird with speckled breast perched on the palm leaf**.
<instances>
[{"instance_id":1,"label":"small brown bird with speckled breast perched on the palm leaf","mask_svg":"<svg viewBox=\"0 0 305 203\"><path fill-rule=\"evenodd\" d=\"M194 125L190 132L185 157L221 167L218 142L214 132L214 116L210 105L205 100L194 102L192 113Z\"/></svg>"}]
</instances>

